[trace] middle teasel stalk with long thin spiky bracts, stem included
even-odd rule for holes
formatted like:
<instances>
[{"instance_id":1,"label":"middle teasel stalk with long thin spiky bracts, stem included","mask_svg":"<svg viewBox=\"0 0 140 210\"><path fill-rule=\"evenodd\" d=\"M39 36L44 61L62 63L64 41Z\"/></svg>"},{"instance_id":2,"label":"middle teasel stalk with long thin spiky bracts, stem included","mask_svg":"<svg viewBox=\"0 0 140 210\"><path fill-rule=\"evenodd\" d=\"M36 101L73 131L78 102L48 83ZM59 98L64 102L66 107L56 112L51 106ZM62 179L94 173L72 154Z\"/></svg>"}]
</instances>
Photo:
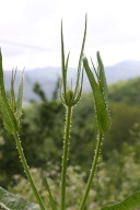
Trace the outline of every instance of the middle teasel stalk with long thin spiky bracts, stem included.
<instances>
[{"instance_id":1,"label":"middle teasel stalk with long thin spiky bracts, stem included","mask_svg":"<svg viewBox=\"0 0 140 210\"><path fill-rule=\"evenodd\" d=\"M62 165L61 165L61 192L60 192L60 210L66 210L66 177L67 177L67 167L68 167L68 154L69 154L69 145L70 145L70 128L71 128L71 119L72 119L72 109L79 103L82 93L83 85L83 68L82 68L82 59L83 51L85 45L86 37L86 22L88 18L85 15L85 26L83 34L83 42L78 63L77 71L77 81L74 89L68 86L67 73L68 73L68 63L69 56L67 59L65 58L65 43L63 43L63 31L62 31L62 22L61 22L61 73L62 79L60 82L60 98L62 104L66 107L66 124L65 124L65 135L63 135L63 151L62 151Z\"/></svg>"}]
</instances>

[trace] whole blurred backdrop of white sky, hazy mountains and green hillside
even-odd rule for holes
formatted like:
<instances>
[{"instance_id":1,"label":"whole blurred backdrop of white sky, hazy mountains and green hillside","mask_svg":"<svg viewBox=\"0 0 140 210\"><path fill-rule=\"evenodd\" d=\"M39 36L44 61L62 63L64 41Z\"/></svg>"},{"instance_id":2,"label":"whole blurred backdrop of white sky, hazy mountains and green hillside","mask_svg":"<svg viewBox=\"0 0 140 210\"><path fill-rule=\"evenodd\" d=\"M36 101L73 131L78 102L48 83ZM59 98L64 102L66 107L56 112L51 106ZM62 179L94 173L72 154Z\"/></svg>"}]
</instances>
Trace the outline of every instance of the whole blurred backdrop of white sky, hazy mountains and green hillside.
<instances>
[{"instance_id":1,"label":"whole blurred backdrop of white sky, hazy mountains and green hillside","mask_svg":"<svg viewBox=\"0 0 140 210\"><path fill-rule=\"evenodd\" d=\"M4 0L0 7L0 47L5 89L18 68L15 90L25 68L22 144L34 179L46 198L44 172L59 202L65 107L59 100L61 75L60 22L69 78L77 66L88 13L85 55L96 51L109 85L112 128L105 135L88 210L120 201L140 186L140 27L139 0ZM0 186L34 201L20 165L14 140L0 117ZM96 144L93 97L84 74L83 95L74 108L67 183L67 209L81 199Z\"/></svg>"}]
</instances>

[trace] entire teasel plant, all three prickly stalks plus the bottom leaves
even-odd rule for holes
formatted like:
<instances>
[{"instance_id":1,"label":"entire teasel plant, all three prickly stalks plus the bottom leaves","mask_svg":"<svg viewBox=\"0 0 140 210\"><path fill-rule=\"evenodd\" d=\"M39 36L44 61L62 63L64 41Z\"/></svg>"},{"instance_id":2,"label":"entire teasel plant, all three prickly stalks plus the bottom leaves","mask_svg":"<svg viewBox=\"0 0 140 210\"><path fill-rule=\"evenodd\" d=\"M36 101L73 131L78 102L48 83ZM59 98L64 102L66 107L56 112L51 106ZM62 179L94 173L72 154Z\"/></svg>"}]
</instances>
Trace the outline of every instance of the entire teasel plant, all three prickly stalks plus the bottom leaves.
<instances>
[{"instance_id":1,"label":"entire teasel plant, all three prickly stalks plus the bottom leaves","mask_svg":"<svg viewBox=\"0 0 140 210\"><path fill-rule=\"evenodd\" d=\"M66 124L65 124L65 135L63 135L63 151L62 151L62 165L61 165L61 190L60 190L60 207L58 207L55 202L54 196L51 194L49 184L45 179L44 184L46 185L48 200L51 206L51 210L66 210L66 178L67 178L67 167L68 167L68 154L69 154L69 144L70 144L70 127L72 119L72 109L79 103L82 94L83 86L83 70L85 70L89 82L92 88L93 100L94 100L94 116L96 118L96 132L97 132L97 142L95 154L93 158L92 167L89 174L89 178L85 185L85 189L83 189L83 196L81 198L81 202L79 205L79 210L86 209L86 200L89 197L90 189L92 187L92 183L95 176L96 167L98 164L102 142L104 139L105 132L110 127L110 116L108 108L108 89L106 83L106 77L104 71L104 65L101 59L100 52L97 51L97 67L95 68L93 61L91 59L92 69L91 70L89 60L84 56L84 45L86 37L86 15L85 15L85 26L84 26L84 35L83 42L78 63L78 72L75 86L72 88L72 84L69 86L67 80L68 72L68 63L69 56L67 59L65 58L65 44L63 44L63 32L62 32L62 22L61 22L61 82L60 82L60 98L62 104L66 107ZM24 151L22 148L22 142L20 138L21 128L22 128L22 104L23 104L23 82L24 82L24 72L21 77L21 82L19 85L18 94L14 92L14 83L16 78L16 70L12 71L11 77L11 88L9 94L5 92L4 88L4 77L3 77L3 68L2 68L2 55L0 50L0 114L2 117L2 121L5 130L11 133L15 140L15 145L19 152L19 156L21 163L23 165L25 175L31 185L33 194L36 198L37 205L27 201L25 198L19 195L12 195L8 192L5 189L0 187L0 208L4 210L46 210L47 207L42 200L42 197L36 188L36 185L33 180L32 174L30 172L28 164L26 162ZM112 206L103 207L101 210L136 210L140 207L140 191L137 191L122 200L119 203L115 203Z\"/></svg>"}]
</instances>

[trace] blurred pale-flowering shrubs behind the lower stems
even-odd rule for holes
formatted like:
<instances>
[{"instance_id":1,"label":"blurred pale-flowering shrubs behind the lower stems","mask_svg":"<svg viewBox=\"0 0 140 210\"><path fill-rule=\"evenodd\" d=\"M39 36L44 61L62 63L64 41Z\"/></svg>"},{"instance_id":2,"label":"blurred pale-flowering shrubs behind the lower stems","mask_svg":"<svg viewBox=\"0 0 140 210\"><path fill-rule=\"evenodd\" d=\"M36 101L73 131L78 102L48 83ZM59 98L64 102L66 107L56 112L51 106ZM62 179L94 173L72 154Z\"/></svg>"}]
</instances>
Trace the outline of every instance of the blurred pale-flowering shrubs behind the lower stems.
<instances>
[{"instance_id":1,"label":"blurred pale-flowering shrubs behind the lower stems","mask_svg":"<svg viewBox=\"0 0 140 210\"><path fill-rule=\"evenodd\" d=\"M93 208L100 210L101 207L121 201L128 195L139 190L140 159L138 156L140 156L140 139L136 139L136 147L138 150L133 145L122 143L121 152L114 150L110 152L107 161L101 160L95 182L88 199L86 206L89 208L86 210L92 210ZM50 209L40 172L38 168L32 168L37 187L48 209ZM49 162L49 170L46 172L46 176L48 177L55 200L59 205L59 167ZM85 179L86 173L81 173L80 166L69 166L67 182L68 210L74 210L78 207L83 188L85 187ZM14 180L14 186L9 186L9 190L14 194L22 194L28 200L35 202L27 180L21 175L15 175Z\"/></svg>"}]
</instances>

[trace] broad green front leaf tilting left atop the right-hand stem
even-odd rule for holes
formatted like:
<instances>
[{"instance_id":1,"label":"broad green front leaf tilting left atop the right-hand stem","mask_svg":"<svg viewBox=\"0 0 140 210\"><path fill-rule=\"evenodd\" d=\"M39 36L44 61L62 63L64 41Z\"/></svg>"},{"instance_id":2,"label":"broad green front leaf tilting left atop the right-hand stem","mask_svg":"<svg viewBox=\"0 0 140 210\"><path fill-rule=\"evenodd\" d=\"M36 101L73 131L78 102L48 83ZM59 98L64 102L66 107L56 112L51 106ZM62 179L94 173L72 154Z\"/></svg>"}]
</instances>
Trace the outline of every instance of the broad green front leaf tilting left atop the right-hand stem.
<instances>
[{"instance_id":1,"label":"broad green front leaf tilting left atop the right-hand stem","mask_svg":"<svg viewBox=\"0 0 140 210\"><path fill-rule=\"evenodd\" d=\"M105 132L109 129L110 120L109 120L109 113L106 107L104 94L101 91L101 86L100 84L97 84L94 78L94 74L89 67L89 62L86 58L83 59L83 66L86 71L86 74L93 91L94 106L95 106L94 108L95 108L95 114L97 118L98 129L100 129L100 132Z\"/></svg>"}]
</instances>

